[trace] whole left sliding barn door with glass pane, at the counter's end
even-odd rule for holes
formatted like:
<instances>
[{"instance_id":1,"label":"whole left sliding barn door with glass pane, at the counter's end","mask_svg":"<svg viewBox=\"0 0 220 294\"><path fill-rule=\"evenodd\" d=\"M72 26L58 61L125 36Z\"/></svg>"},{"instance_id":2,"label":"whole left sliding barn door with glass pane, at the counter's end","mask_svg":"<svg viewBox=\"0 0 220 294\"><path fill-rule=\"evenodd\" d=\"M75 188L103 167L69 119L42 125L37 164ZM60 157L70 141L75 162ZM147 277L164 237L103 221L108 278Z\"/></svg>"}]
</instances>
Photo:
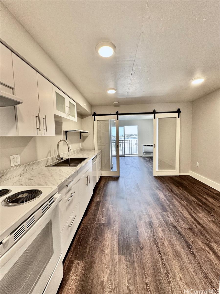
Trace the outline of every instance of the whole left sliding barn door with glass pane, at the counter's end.
<instances>
[{"instance_id":1,"label":"whole left sliding barn door with glass pane, at the counter's end","mask_svg":"<svg viewBox=\"0 0 220 294\"><path fill-rule=\"evenodd\" d=\"M101 149L102 176L120 176L119 121L115 116L96 116L95 149Z\"/></svg>"}]
</instances>

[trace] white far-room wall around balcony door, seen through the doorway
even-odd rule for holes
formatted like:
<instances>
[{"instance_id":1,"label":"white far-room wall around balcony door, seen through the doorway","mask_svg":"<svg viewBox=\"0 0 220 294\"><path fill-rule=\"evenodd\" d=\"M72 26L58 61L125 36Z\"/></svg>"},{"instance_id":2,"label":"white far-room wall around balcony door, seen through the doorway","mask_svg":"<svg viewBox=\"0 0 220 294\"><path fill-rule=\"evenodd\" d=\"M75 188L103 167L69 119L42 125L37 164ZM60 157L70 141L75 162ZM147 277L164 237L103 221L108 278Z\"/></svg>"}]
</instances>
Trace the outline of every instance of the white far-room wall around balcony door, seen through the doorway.
<instances>
[{"instance_id":1,"label":"white far-room wall around balcony door, seen through the doorway","mask_svg":"<svg viewBox=\"0 0 220 294\"><path fill-rule=\"evenodd\" d=\"M153 144L153 119L122 120L119 126L138 126L138 156L142 156L142 144Z\"/></svg>"}]
</instances>

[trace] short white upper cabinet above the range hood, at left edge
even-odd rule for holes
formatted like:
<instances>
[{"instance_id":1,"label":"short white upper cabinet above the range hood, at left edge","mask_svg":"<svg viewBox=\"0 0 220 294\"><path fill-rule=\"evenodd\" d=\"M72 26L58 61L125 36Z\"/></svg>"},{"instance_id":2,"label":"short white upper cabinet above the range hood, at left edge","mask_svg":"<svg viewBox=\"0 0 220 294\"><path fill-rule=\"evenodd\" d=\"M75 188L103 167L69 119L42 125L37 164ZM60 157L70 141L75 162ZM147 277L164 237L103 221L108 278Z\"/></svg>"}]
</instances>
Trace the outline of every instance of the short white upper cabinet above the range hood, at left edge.
<instances>
[{"instance_id":1,"label":"short white upper cabinet above the range hood, at left edge","mask_svg":"<svg viewBox=\"0 0 220 294\"><path fill-rule=\"evenodd\" d=\"M0 62L0 71L1 71L1 83L10 88L14 88L14 76L13 76L13 66L12 66L12 56L11 50L1 43L1 62Z\"/></svg>"}]
</instances>

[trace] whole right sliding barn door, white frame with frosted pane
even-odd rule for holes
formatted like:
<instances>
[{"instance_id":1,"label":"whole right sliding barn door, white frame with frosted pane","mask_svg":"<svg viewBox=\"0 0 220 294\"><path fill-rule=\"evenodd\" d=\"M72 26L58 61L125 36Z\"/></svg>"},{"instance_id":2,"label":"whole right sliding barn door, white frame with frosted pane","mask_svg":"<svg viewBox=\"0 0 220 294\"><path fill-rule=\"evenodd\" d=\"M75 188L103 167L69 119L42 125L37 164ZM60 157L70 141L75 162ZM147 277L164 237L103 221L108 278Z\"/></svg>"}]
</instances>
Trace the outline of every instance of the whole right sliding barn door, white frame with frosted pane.
<instances>
[{"instance_id":1,"label":"whole right sliding barn door, white frame with frosted pane","mask_svg":"<svg viewBox=\"0 0 220 294\"><path fill-rule=\"evenodd\" d=\"M178 113L157 113L153 119L153 176L178 176L180 118Z\"/></svg>"}]
</instances>

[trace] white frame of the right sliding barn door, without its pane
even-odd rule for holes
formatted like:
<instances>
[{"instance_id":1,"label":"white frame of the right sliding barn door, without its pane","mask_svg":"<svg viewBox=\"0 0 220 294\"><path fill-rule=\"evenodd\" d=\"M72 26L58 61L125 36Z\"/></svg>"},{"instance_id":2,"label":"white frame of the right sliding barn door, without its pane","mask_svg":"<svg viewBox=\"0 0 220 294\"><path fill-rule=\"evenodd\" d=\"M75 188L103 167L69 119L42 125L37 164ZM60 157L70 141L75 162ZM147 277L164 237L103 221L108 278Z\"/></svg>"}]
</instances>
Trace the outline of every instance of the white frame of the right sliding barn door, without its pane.
<instances>
[{"instance_id":1,"label":"white frame of the right sliding barn door, without its pane","mask_svg":"<svg viewBox=\"0 0 220 294\"><path fill-rule=\"evenodd\" d=\"M176 118L176 155L175 155L175 170L158 171L158 119L159 118ZM153 118L153 176L179 176L180 166L180 118L178 113L156 113Z\"/></svg>"}]
</instances>

